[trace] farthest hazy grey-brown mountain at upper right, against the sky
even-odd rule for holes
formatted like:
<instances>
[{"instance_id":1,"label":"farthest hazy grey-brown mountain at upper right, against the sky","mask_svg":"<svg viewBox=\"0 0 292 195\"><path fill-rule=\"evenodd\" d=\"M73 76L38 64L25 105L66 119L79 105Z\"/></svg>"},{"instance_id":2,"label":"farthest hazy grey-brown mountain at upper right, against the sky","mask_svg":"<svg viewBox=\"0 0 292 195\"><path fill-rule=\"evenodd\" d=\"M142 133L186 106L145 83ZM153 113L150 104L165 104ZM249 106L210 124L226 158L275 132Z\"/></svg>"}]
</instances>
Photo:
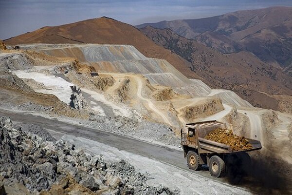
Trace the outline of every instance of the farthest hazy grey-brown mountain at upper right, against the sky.
<instances>
[{"instance_id":1,"label":"farthest hazy grey-brown mountain at upper right, against the sky","mask_svg":"<svg viewBox=\"0 0 292 195\"><path fill-rule=\"evenodd\" d=\"M292 62L292 7L237 11L204 19L161 21L137 27L147 25L170 28L225 54L245 49L274 66L286 67Z\"/></svg>"}]
</instances>

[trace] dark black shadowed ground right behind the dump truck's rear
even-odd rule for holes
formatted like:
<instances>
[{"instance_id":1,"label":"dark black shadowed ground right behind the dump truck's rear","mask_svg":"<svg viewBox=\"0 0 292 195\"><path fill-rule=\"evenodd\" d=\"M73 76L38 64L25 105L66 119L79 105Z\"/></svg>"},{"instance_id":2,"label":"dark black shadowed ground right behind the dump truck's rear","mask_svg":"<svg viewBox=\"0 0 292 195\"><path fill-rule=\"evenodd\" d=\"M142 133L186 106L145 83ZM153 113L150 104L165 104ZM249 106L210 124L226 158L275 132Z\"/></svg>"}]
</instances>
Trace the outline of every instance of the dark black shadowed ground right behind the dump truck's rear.
<instances>
[{"instance_id":1,"label":"dark black shadowed ground right behind the dump truck's rear","mask_svg":"<svg viewBox=\"0 0 292 195\"><path fill-rule=\"evenodd\" d=\"M244 154L229 159L233 162L228 169L229 183L260 194L292 194L292 180L287 178L292 174L291 164L259 153L252 157Z\"/></svg>"}]
</instances>

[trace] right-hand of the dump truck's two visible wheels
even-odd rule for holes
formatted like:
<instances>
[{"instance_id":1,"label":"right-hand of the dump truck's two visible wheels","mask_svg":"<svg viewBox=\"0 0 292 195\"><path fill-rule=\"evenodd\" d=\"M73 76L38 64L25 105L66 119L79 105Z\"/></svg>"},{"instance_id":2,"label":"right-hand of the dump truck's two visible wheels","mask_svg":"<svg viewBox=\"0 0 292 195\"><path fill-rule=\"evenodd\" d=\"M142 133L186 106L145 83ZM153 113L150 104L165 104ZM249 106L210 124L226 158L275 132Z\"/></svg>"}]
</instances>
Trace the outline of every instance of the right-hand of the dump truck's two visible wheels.
<instances>
[{"instance_id":1,"label":"right-hand of the dump truck's two visible wheels","mask_svg":"<svg viewBox=\"0 0 292 195\"><path fill-rule=\"evenodd\" d=\"M209 161L209 171L214 177L225 176L226 165L222 158L219 156L212 156Z\"/></svg>"}]
</instances>

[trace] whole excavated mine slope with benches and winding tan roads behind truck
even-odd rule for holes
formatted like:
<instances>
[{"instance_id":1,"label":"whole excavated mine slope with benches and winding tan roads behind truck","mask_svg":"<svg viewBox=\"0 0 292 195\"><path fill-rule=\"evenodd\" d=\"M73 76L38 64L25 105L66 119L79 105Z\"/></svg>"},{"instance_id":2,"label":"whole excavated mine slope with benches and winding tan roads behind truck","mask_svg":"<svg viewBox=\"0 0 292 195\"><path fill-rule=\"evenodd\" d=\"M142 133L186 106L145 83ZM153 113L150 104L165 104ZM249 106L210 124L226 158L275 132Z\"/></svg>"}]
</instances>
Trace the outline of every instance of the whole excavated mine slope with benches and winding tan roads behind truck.
<instances>
[{"instance_id":1,"label":"whole excavated mine slope with benches and winding tan roads behind truck","mask_svg":"<svg viewBox=\"0 0 292 195\"><path fill-rule=\"evenodd\" d=\"M41 43L19 48L0 52L0 109L66 117L65 121L94 129L83 133L85 126L61 125L66 134L73 131L79 137L100 137L99 129L171 148L179 147L184 124L216 119L228 123L237 135L260 140L262 155L276 152L277 162L292 160L291 115L255 108L232 91L186 78L166 60L146 58L133 46ZM95 70L98 75L92 76ZM60 133L55 121L45 124ZM118 137L124 147L123 136ZM101 139L108 142L109 137ZM72 139L74 144L78 140ZM269 162L276 163L273 157ZM280 171L291 178L291 172Z\"/></svg>"}]
</instances>

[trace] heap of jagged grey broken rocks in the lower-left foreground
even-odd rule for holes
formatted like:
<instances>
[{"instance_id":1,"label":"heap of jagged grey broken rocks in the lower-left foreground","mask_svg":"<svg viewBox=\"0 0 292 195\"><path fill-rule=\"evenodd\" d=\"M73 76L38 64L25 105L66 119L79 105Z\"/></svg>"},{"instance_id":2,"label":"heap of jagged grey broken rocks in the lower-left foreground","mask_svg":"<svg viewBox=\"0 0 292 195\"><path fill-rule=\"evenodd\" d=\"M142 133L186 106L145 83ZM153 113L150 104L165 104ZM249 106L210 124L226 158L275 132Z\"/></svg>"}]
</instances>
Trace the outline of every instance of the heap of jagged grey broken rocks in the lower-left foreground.
<instances>
[{"instance_id":1,"label":"heap of jagged grey broken rocks in the lower-left foreground","mask_svg":"<svg viewBox=\"0 0 292 195\"><path fill-rule=\"evenodd\" d=\"M146 180L124 160L106 162L55 140L45 129L15 126L9 117L0 118L0 190L7 194L9 189L41 195L176 194L163 186L148 186Z\"/></svg>"}]
</instances>

